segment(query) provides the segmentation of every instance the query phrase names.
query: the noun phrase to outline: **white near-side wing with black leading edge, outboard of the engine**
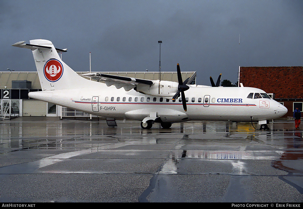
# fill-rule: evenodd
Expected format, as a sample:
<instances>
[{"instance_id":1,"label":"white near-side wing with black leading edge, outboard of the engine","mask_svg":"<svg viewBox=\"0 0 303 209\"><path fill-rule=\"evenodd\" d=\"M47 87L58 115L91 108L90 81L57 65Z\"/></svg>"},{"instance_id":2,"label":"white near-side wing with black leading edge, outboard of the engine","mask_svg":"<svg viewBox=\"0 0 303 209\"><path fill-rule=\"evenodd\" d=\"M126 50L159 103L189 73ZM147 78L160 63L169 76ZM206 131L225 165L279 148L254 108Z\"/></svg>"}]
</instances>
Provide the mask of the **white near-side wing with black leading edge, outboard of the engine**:
<instances>
[{"instance_id":1,"label":"white near-side wing with black leading edge, outboard of the engine","mask_svg":"<svg viewBox=\"0 0 303 209\"><path fill-rule=\"evenodd\" d=\"M131 90L137 84L145 84L150 86L154 84L154 82L151 80L102 73L85 73L81 74L81 76L91 77L96 80L103 80L107 86L114 85L118 89L123 87L125 91Z\"/></svg>"}]
</instances>

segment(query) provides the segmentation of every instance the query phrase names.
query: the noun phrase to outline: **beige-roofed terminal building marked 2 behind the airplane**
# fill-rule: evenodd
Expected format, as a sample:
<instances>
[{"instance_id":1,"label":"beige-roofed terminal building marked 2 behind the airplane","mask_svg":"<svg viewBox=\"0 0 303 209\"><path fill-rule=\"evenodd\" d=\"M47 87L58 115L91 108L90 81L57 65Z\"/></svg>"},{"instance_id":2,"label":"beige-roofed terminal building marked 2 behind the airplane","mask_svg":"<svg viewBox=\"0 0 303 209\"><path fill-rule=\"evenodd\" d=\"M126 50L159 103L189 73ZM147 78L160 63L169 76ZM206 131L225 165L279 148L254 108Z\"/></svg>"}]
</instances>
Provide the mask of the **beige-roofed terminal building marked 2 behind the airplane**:
<instances>
[{"instance_id":1,"label":"beige-roofed terminal building marked 2 behind the airplane","mask_svg":"<svg viewBox=\"0 0 303 209\"><path fill-rule=\"evenodd\" d=\"M89 72L76 72L85 74ZM141 78L146 80L158 80L158 72L102 72L125 77ZM183 81L193 77L191 84L196 82L196 72L181 72ZM89 78L87 78L89 79ZM94 79L92 79L94 80ZM178 82L176 72L161 72L161 80ZM101 82L94 80L95 82ZM70 119L97 120L98 117L70 108L55 105L49 102L31 99L28 93L42 91L38 73L6 71L0 72L0 117L1 119L12 119L19 116L46 116Z\"/></svg>"}]
</instances>

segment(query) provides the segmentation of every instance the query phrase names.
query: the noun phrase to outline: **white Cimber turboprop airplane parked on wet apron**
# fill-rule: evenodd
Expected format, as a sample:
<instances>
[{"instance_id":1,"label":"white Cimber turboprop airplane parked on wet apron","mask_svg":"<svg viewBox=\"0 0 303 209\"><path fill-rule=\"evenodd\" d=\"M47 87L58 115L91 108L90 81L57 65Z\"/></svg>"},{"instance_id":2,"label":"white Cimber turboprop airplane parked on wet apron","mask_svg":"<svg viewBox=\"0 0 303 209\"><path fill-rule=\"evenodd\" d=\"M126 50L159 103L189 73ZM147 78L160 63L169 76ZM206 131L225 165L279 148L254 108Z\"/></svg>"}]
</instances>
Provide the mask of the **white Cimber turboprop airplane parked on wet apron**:
<instances>
[{"instance_id":1,"label":"white Cimber turboprop airplane parked on wet apron","mask_svg":"<svg viewBox=\"0 0 303 209\"><path fill-rule=\"evenodd\" d=\"M58 55L66 49L56 49L48 40L31 40L30 44L21 41L12 46L31 49L34 55L42 91L30 92L30 98L106 118L142 121L144 129L151 128L155 122L170 128L172 123L190 120L258 121L260 129L268 129L268 120L287 112L287 108L261 89L218 87L221 74L217 84L211 79L212 87L189 85L191 78L183 82L179 64L178 83L102 73L82 74L101 79L102 83L76 74Z\"/></svg>"}]
</instances>

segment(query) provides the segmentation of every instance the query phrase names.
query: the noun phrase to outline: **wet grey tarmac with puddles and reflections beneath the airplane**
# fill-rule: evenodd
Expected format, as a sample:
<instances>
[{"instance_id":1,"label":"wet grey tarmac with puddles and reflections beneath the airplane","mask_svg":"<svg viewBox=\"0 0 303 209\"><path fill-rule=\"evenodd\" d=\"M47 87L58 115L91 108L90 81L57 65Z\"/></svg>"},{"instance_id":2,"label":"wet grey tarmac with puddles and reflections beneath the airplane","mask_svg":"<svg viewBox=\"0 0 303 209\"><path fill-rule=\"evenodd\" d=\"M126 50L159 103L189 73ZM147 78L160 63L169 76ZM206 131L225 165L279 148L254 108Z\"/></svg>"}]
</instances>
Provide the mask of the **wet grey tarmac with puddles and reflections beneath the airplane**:
<instances>
[{"instance_id":1,"label":"wet grey tarmac with puddles and reflections beneath the airplane","mask_svg":"<svg viewBox=\"0 0 303 209\"><path fill-rule=\"evenodd\" d=\"M1 121L0 201L302 202L302 130L293 121L269 128L210 121L150 130L136 121L118 121L116 128L50 117Z\"/></svg>"}]
</instances>

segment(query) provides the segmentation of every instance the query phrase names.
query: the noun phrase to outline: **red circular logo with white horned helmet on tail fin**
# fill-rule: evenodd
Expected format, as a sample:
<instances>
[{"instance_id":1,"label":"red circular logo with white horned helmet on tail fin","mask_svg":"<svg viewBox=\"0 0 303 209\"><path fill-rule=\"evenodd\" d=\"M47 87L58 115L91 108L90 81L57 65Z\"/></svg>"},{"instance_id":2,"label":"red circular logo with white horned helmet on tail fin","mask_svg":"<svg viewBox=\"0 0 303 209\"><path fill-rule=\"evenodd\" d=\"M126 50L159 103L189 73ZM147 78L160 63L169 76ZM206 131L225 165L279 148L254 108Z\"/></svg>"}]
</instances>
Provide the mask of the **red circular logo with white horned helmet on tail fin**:
<instances>
[{"instance_id":1,"label":"red circular logo with white horned helmet on tail fin","mask_svg":"<svg viewBox=\"0 0 303 209\"><path fill-rule=\"evenodd\" d=\"M59 60L50 59L45 63L43 72L48 81L58 81L63 74L63 65Z\"/></svg>"}]
</instances>

